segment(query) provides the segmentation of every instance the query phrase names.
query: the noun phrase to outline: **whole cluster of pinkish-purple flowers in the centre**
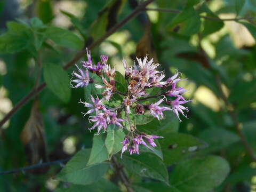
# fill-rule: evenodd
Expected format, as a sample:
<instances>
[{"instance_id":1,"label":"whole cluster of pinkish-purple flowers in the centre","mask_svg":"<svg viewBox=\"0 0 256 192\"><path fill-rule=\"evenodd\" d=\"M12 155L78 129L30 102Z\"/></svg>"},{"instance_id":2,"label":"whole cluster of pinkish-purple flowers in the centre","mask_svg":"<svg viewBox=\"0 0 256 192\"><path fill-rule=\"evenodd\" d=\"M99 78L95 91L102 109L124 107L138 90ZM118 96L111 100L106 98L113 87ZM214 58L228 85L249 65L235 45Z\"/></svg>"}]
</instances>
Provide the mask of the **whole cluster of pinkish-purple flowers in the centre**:
<instances>
[{"instance_id":1,"label":"whole cluster of pinkish-purple flowers in the centre","mask_svg":"<svg viewBox=\"0 0 256 192\"><path fill-rule=\"evenodd\" d=\"M128 148L130 154L139 154L140 144L148 148L155 147L154 139L163 138L157 135L141 133L137 130L135 122L131 120L131 115L143 115L146 111L149 111L152 116L160 121L164 118L163 111L172 110L180 121L179 114L187 118L185 111L188 111L188 108L184 107L183 104L191 100L186 100L182 96L187 90L177 85L179 81L182 81L178 71L164 81L165 74L163 71L157 70L159 64L154 63L153 59L148 60L145 57L142 60L137 58L137 62L131 67L123 60L127 91L122 93L116 87L116 72L114 68L108 65L108 57L101 55L100 61L97 65L94 65L91 59L91 52L89 50L86 51L87 61L82 61L84 69L76 65L78 72L74 71L72 73L76 79L71 79L71 87L84 87L90 83L95 83L96 89L103 89L100 96L101 99L98 98L98 95L95 95L95 97L91 95L91 103L82 101L80 103L89 108L87 113L84 113L84 116L94 114L94 116L89 116L89 121L94 123L90 130L97 128L97 134L101 130L103 132L107 131L109 124L116 124L119 127L126 128L127 134L122 142L122 154ZM89 76L89 71L98 75L102 81L95 81L94 78ZM73 85L74 83L75 85ZM153 87L159 87L159 91L155 95L150 95L147 90ZM122 98L120 100L121 105L115 108L108 107L106 104L110 102L115 94L121 96L119 97ZM153 100L150 100L152 98L158 99L158 101L153 102ZM165 103L165 106L163 106L163 103ZM123 118L120 118L121 116ZM129 126L126 126L126 123Z\"/></svg>"}]
</instances>

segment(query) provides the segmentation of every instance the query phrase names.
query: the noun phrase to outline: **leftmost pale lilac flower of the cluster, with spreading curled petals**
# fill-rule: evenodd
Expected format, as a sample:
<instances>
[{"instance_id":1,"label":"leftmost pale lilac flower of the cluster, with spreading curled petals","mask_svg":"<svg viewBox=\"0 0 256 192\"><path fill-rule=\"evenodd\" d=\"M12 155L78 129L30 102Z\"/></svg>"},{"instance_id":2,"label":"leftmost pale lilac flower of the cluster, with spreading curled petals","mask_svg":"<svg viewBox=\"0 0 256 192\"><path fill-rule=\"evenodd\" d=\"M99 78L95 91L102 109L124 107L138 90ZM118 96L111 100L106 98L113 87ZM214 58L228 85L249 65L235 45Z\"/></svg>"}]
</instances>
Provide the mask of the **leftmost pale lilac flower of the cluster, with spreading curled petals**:
<instances>
[{"instance_id":1,"label":"leftmost pale lilac flower of the cluster, with spreading curled petals","mask_svg":"<svg viewBox=\"0 0 256 192\"><path fill-rule=\"evenodd\" d=\"M71 75L73 75L74 77L78 78L78 79L71 79L70 81L70 85L72 88L77 88L77 87L83 87L83 86L87 86L90 83L90 77L89 77L89 72L88 70L84 71L82 69L80 69L77 65L76 65L78 71L80 74L75 73L75 71L73 71L73 73ZM72 85L72 83L77 83L75 86Z\"/></svg>"}]
</instances>

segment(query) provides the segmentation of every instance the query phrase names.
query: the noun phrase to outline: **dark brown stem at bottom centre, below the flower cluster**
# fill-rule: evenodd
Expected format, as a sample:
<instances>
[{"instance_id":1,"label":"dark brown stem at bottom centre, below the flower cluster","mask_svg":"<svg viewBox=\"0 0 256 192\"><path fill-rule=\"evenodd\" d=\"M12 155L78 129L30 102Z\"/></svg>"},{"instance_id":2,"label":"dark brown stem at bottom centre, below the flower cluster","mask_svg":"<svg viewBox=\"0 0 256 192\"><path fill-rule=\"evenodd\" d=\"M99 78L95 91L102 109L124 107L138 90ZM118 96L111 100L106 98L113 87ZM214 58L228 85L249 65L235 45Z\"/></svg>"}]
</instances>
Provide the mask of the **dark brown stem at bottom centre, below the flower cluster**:
<instances>
[{"instance_id":1,"label":"dark brown stem at bottom centre, below the flower cluster","mask_svg":"<svg viewBox=\"0 0 256 192\"><path fill-rule=\"evenodd\" d=\"M111 158L111 164L113 165L116 173L118 174L119 179L122 181L122 183L124 183L124 186L126 187L127 191L128 192L134 192L134 190L130 186L131 183L130 183L129 179L126 176L126 174L123 170L123 167L117 163L116 158L114 156Z\"/></svg>"}]
</instances>

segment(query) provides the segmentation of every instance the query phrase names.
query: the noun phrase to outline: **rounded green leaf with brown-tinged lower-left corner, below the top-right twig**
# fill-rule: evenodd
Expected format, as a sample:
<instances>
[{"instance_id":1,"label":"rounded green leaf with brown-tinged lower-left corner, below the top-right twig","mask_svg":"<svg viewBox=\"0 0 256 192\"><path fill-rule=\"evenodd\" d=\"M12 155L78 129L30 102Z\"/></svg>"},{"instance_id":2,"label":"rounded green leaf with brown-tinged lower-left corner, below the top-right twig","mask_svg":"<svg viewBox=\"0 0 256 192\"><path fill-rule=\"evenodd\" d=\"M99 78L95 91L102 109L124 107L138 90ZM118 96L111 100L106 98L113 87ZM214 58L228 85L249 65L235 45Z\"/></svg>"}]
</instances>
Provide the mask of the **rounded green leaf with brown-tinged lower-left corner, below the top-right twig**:
<instances>
[{"instance_id":1,"label":"rounded green leaf with brown-tinged lower-left corner, below the top-right twig","mask_svg":"<svg viewBox=\"0 0 256 192\"><path fill-rule=\"evenodd\" d=\"M187 8L179 13L167 25L167 30L178 31L178 34L190 36L196 34L201 26L201 19L199 14L193 7Z\"/></svg>"}]
</instances>

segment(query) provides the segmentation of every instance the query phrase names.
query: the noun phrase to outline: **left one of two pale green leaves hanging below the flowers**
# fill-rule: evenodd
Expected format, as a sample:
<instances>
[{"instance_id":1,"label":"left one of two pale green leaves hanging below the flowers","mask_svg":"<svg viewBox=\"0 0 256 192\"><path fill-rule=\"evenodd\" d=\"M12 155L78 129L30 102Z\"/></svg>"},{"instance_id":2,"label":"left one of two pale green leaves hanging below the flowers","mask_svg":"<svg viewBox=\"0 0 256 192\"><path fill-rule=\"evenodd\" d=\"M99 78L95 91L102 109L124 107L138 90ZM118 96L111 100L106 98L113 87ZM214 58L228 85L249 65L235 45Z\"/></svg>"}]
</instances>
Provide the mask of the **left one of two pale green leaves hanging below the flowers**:
<instances>
[{"instance_id":1,"label":"left one of two pale green leaves hanging below the flowers","mask_svg":"<svg viewBox=\"0 0 256 192\"><path fill-rule=\"evenodd\" d=\"M108 159L108 150L105 146L105 135L94 135L91 155L87 165L101 163Z\"/></svg>"}]
</instances>

